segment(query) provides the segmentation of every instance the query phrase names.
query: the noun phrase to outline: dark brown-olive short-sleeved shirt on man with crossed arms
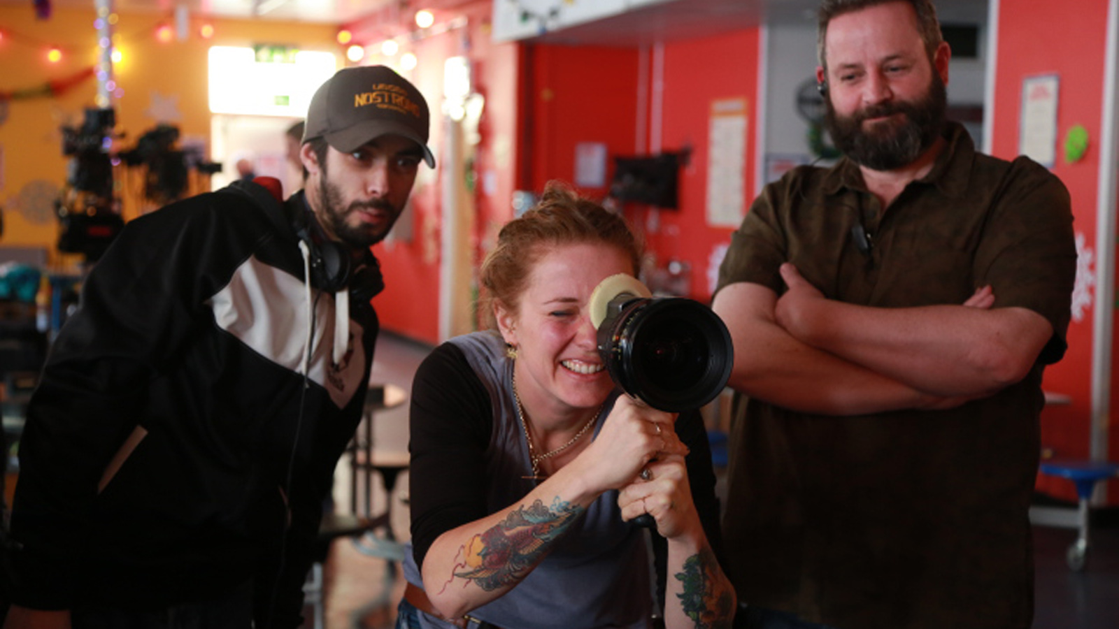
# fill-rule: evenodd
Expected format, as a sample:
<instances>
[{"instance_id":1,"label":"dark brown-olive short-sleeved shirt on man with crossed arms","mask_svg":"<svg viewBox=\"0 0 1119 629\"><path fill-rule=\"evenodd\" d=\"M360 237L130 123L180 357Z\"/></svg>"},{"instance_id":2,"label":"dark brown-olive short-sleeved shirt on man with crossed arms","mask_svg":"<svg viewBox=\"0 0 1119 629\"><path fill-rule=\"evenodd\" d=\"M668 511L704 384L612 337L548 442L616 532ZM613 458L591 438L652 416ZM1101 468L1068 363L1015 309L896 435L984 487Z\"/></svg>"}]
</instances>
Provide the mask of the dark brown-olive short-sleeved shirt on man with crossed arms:
<instances>
[{"instance_id":1,"label":"dark brown-olive short-sleeved shirt on man with crossed arms","mask_svg":"<svg viewBox=\"0 0 1119 629\"><path fill-rule=\"evenodd\" d=\"M1023 382L948 411L835 417L737 401L724 539L744 602L841 629L1031 625L1028 506L1042 369L1064 353L1075 278L1070 198L1027 158L977 153L955 123L946 138L888 208L847 159L767 186L718 287L781 294L783 262L829 299L877 308L960 304L990 284L995 308L1038 312L1053 338Z\"/></svg>"}]
</instances>

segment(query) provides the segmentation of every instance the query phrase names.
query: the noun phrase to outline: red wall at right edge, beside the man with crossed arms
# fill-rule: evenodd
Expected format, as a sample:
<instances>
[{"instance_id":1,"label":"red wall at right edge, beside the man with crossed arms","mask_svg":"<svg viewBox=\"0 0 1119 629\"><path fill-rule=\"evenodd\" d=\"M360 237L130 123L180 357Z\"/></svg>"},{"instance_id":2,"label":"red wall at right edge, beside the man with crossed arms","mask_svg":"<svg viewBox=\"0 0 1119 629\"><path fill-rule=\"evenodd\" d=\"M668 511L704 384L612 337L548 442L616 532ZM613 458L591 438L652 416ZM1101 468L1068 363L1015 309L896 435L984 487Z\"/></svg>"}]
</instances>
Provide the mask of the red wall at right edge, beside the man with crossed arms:
<instances>
[{"instance_id":1,"label":"red wall at right edge, beside the man with crossed arms","mask_svg":"<svg viewBox=\"0 0 1119 629\"><path fill-rule=\"evenodd\" d=\"M1057 75L1057 159L1053 172L1064 181L1072 196L1075 231L1083 235L1085 245L1092 251L1091 271L1096 273L1096 205L1108 0L1081 0L1075 11L1069 9L1069 2L1062 0L1003 0L1000 3L993 152L1007 159L1018 154L1023 78ZM1075 124L1083 125L1091 140L1084 158L1069 163L1062 143L1065 133ZM1072 397L1071 405L1049 406L1042 413L1042 445L1052 449L1056 457L1087 458L1089 454L1092 317L1093 308L1085 308L1081 320L1072 322L1069 351L1061 363L1045 372L1047 391ZM1115 369L1111 372L1113 374ZM1112 453L1119 451L1115 416L1112 411ZM1061 498L1075 497L1066 480L1041 476L1038 488ZM1115 487L1111 496L1119 496Z\"/></svg>"}]
</instances>

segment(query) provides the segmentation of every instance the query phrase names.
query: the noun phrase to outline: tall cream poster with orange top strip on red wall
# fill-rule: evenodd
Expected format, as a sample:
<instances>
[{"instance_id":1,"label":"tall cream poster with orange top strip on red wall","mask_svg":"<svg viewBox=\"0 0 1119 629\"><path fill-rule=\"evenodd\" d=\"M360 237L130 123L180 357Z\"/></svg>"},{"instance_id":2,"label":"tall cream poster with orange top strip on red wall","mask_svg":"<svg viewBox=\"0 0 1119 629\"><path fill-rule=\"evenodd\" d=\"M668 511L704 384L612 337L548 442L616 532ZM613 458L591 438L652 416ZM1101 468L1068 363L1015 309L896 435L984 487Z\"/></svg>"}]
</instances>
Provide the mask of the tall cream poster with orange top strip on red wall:
<instances>
[{"instance_id":1,"label":"tall cream poster with orange top strip on red wall","mask_svg":"<svg viewBox=\"0 0 1119 629\"><path fill-rule=\"evenodd\" d=\"M737 227L745 198L745 98L712 102L707 145L707 224Z\"/></svg>"}]
</instances>

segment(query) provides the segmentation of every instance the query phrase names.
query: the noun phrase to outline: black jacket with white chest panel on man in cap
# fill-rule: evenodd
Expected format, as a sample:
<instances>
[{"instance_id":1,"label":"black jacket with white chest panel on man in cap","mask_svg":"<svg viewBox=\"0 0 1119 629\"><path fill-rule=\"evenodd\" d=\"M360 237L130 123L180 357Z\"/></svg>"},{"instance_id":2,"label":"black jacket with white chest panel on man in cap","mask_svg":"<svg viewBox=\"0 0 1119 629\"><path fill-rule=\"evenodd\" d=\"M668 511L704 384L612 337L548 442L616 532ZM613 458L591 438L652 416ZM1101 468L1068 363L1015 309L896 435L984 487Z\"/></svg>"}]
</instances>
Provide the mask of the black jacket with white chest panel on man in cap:
<instances>
[{"instance_id":1,"label":"black jacket with white chest panel on man in cap","mask_svg":"<svg viewBox=\"0 0 1119 629\"><path fill-rule=\"evenodd\" d=\"M303 196L262 190L130 222L85 280L20 442L15 603L158 608L253 582L256 627L299 623L378 325L351 302L335 359L335 294L304 285L289 219Z\"/></svg>"}]
</instances>

